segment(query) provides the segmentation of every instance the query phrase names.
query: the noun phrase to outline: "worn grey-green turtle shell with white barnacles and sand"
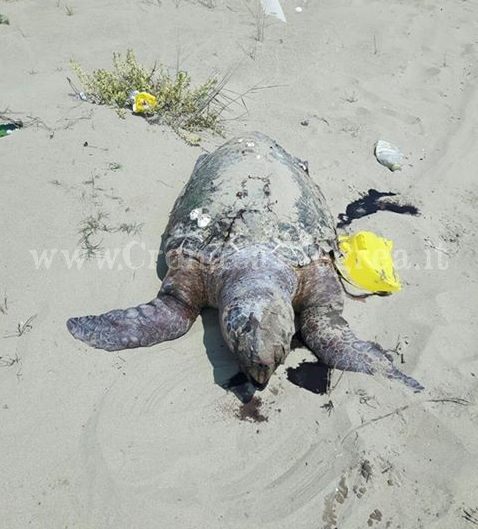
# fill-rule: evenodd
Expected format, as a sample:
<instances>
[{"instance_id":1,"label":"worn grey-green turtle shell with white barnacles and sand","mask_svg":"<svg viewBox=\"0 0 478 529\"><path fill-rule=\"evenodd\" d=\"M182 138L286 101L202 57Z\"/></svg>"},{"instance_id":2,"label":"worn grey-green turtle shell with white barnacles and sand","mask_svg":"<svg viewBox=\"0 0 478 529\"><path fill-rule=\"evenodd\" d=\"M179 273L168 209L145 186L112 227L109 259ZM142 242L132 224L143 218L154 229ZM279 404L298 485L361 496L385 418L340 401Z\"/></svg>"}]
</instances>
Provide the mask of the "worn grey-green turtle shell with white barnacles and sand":
<instances>
[{"instance_id":1,"label":"worn grey-green turtle shell with white barnacles and sand","mask_svg":"<svg viewBox=\"0 0 478 529\"><path fill-rule=\"evenodd\" d=\"M336 250L336 237L306 164L253 132L198 159L171 212L164 251L209 260L256 245L304 266Z\"/></svg>"}]
</instances>

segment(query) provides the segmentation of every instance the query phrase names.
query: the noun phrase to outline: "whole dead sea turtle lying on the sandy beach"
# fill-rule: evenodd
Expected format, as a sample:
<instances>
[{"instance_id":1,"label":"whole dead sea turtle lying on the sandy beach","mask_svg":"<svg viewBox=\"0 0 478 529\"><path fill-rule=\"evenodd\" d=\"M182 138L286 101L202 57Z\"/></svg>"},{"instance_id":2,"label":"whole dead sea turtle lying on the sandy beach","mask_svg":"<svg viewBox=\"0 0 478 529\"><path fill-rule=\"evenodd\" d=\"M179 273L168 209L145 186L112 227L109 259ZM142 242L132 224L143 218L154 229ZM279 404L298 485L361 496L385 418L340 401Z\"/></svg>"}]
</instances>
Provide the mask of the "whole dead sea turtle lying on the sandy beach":
<instances>
[{"instance_id":1,"label":"whole dead sea turtle lying on the sandy beach","mask_svg":"<svg viewBox=\"0 0 478 529\"><path fill-rule=\"evenodd\" d=\"M248 133L200 156L163 241L169 270L158 296L72 318L73 336L107 351L147 347L183 335L212 306L228 347L259 388L284 362L297 330L327 366L422 389L342 317L333 218L307 163L271 138Z\"/></svg>"}]
</instances>

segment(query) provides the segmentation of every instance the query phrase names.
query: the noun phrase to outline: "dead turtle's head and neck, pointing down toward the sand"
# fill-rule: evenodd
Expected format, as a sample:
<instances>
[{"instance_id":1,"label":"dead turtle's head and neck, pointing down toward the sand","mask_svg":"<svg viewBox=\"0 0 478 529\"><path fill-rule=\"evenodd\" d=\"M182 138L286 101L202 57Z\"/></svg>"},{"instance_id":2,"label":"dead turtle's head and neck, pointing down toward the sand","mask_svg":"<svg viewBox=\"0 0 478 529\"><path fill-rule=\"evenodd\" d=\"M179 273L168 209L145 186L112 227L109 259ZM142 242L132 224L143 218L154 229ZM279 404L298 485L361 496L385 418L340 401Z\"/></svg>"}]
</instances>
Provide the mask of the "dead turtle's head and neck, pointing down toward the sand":
<instances>
[{"instance_id":1,"label":"dead turtle's head and neck, pointing down toward the sand","mask_svg":"<svg viewBox=\"0 0 478 529\"><path fill-rule=\"evenodd\" d=\"M267 266L237 259L219 295L221 330L250 381L263 389L289 354L295 332L292 270L271 256Z\"/></svg>"}]
</instances>

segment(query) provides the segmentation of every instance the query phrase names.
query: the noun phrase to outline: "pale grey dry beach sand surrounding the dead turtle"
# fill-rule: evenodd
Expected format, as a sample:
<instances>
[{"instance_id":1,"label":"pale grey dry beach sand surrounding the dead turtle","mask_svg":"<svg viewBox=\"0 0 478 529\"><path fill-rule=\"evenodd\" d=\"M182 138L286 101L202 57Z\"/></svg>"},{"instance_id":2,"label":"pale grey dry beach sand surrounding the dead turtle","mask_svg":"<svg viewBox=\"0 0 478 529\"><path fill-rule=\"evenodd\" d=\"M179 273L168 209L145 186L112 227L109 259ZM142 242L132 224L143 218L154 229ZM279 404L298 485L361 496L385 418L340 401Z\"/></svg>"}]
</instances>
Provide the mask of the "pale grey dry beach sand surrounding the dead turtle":
<instances>
[{"instance_id":1,"label":"pale grey dry beach sand surrounding the dead turtle","mask_svg":"<svg viewBox=\"0 0 478 529\"><path fill-rule=\"evenodd\" d=\"M478 4L283 0L287 24L268 18L263 42L252 1L200 4L0 1L10 18L0 26L0 112L30 124L0 139L0 331L15 335L36 316L0 343L0 527L471 529ZM296 349L257 410L242 410L256 421L241 420L240 401L217 384L235 367L213 311L146 350L106 353L72 339L68 317L154 296L154 263L141 260L149 251L154 260L202 152L71 97L70 58L107 67L127 48L144 63L179 60L197 80L233 70L236 92L268 86L248 94L227 136L261 130L307 159L334 214L370 187L420 207L420 217L379 213L352 226L393 239L408 262L400 294L347 301L346 316L364 337L390 348L400 340L423 394L338 372L330 394L308 392L287 380L287 367L311 359ZM373 158L379 138L407 155L401 173ZM134 270L124 259L114 270L95 259L66 265L61 252L78 248L82 220L98 211L111 225L143 224L102 241L129 244ZM35 265L35 252L54 249L50 267ZM454 397L469 404L430 402Z\"/></svg>"}]
</instances>

